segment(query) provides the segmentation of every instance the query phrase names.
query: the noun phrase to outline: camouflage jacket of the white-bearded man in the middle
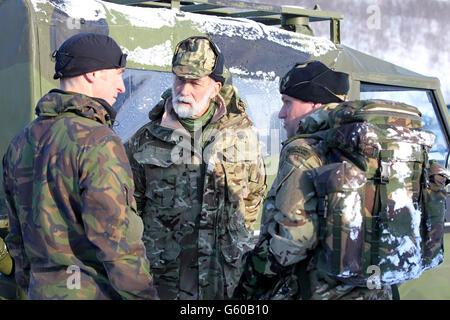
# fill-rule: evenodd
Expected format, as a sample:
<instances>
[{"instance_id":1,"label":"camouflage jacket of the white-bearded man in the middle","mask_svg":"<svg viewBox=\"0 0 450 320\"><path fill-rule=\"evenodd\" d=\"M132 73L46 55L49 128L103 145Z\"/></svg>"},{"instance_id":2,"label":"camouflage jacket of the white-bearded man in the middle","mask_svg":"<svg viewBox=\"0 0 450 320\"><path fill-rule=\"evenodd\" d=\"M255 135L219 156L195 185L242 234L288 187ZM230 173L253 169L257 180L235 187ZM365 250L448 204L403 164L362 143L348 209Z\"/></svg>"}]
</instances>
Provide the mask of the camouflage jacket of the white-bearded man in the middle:
<instances>
[{"instance_id":1,"label":"camouflage jacket of the white-bearded man in the middle","mask_svg":"<svg viewBox=\"0 0 450 320\"><path fill-rule=\"evenodd\" d=\"M222 88L193 136L171 101L166 91L127 145L155 286L162 299L226 299L254 245L264 163L234 87Z\"/></svg>"}]
</instances>

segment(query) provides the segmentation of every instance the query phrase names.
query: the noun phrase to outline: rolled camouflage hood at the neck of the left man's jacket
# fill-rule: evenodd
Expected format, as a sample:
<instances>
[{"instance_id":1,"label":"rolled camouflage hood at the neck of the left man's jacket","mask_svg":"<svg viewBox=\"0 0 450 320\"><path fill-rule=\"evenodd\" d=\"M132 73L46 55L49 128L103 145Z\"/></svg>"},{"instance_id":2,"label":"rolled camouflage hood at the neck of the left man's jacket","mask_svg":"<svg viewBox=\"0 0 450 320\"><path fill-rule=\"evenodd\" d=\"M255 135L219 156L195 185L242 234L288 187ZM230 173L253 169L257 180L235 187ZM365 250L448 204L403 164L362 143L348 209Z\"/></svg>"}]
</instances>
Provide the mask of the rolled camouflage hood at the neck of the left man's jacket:
<instances>
[{"instance_id":1,"label":"rolled camouflage hood at the neck of the left man's jacket","mask_svg":"<svg viewBox=\"0 0 450 320\"><path fill-rule=\"evenodd\" d=\"M73 112L108 127L112 127L116 117L116 111L103 99L59 89L53 89L43 96L35 112L39 117L57 117L65 112Z\"/></svg>"}]
</instances>

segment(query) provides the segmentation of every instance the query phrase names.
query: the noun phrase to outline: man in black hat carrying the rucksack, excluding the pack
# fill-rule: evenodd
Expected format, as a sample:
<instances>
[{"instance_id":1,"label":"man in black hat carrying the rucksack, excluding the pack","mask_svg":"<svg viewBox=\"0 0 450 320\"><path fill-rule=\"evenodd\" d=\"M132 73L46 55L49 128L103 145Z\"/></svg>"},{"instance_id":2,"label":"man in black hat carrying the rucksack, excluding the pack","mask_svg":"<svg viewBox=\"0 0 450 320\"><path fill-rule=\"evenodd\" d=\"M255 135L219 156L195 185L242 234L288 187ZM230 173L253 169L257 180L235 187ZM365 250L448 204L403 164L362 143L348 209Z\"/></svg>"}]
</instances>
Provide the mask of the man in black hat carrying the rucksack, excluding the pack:
<instances>
[{"instance_id":1,"label":"man in black hat carrying the rucksack, excluding the pack","mask_svg":"<svg viewBox=\"0 0 450 320\"><path fill-rule=\"evenodd\" d=\"M355 287L318 272L314 259L319 222L307 172L326 158L318 140L291 138L302 134L296 130L304 117L324 103L343 101L347 91L348 75L317 61L296 65L283 77L278 116L289 140L283 143L278 174L264 201L259 241L244 259L235 298L391 299L390 288Z\"/></svg>"}]
</instances>

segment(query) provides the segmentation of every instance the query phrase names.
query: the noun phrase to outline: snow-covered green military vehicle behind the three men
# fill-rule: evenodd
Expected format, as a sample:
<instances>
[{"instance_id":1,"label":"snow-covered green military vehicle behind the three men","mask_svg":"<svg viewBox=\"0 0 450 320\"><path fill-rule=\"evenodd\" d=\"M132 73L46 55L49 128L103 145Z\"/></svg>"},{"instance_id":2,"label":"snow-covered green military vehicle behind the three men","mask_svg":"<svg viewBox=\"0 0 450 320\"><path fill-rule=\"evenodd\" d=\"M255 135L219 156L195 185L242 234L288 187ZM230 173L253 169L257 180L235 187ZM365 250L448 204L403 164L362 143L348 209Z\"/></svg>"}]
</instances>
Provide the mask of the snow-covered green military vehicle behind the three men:
<instances>
[{"instance_id":1,"label":"snow-covered green military vehicle behind the three men","mask_svg":"<svg viewBox=\"0 0 450 320\"><path fill-rule=\"evenodd\" d=\"M0 155L34 117L42 95L58 87L52 52L79 32L114 38L128 54L127 91L115 103L126 143L172 84L175 45L193 35L210 37L225 56L227 83L247 102L269 174L276 174L284 130L280 78L295 64L320 60L350 75L349 99L383 98L417 106L436 134L431 158L449 161L450 118L437 78L426 77L341 44L341 13L319 8L232 0L0 0ZM351 19L351 17L349 17ZM314 23L329 23L329 37ZM4 208L0 214L4 215ZM450 216L447 213L447 221ZM446 223L448 227L448 222ZM445 244L450 245L450 233ZM402 299L450 299L450 257L421 278L400 286Z\"/></svg>"}]
</instances>

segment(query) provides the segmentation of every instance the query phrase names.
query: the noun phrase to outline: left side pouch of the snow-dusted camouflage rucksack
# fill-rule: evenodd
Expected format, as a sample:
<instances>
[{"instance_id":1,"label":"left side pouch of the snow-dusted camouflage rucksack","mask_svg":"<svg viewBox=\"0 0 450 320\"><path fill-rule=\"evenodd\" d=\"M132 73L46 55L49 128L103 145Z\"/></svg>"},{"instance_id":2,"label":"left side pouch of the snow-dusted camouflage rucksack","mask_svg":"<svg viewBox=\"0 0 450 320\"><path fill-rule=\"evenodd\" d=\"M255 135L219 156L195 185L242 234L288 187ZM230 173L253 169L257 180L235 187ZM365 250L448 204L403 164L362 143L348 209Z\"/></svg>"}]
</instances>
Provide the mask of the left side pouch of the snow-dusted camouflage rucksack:
<instances>
[{"instance_id":1,"label":"left side pouch of the snow-dusted camouflage rucksack","mask_svg":"<svg viewBox=\"0 0 450 320\"><path fill-rule=\"evenodd\" d=\"M363 273L366 176L350 163L313 169L317 195L319 270L340 278Z\"/></svg>"}]
</instances>

